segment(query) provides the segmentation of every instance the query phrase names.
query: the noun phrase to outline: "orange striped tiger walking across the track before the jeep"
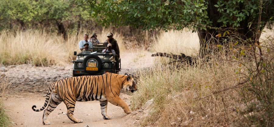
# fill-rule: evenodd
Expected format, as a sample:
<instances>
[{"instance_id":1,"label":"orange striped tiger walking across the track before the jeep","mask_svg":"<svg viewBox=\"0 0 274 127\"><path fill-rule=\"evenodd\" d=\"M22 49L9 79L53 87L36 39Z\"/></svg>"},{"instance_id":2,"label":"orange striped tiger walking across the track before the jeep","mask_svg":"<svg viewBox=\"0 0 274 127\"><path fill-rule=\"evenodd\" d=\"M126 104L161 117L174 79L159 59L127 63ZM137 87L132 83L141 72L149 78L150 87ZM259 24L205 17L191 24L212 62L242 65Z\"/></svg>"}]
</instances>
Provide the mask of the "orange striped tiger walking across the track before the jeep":
<instances>
[{"instance_id":1,"label":"orange striped tiger walking across the track before the jeep","mask_svg":"<svg viewBox=\"0 0 274 127\"><path fill-rule=\"evenodd\" d=\"M101 114L103 119L112 119L107 115L107 103L110 102L121 107L126 114L130 114L131 110L123 101L119 94L121 90L135 92L137 90L133 75L119 75L114 73L104 73L99 76L78 76L69 77L54 81L48 88L44 106L33 111L42 111L43 124L51 124L47 117L60 104L64 102L67 107L67 116L74 123L82 123L83 120L76 119L73 116L76 101L100 101Z\"/></svg>"}]
</instances>

